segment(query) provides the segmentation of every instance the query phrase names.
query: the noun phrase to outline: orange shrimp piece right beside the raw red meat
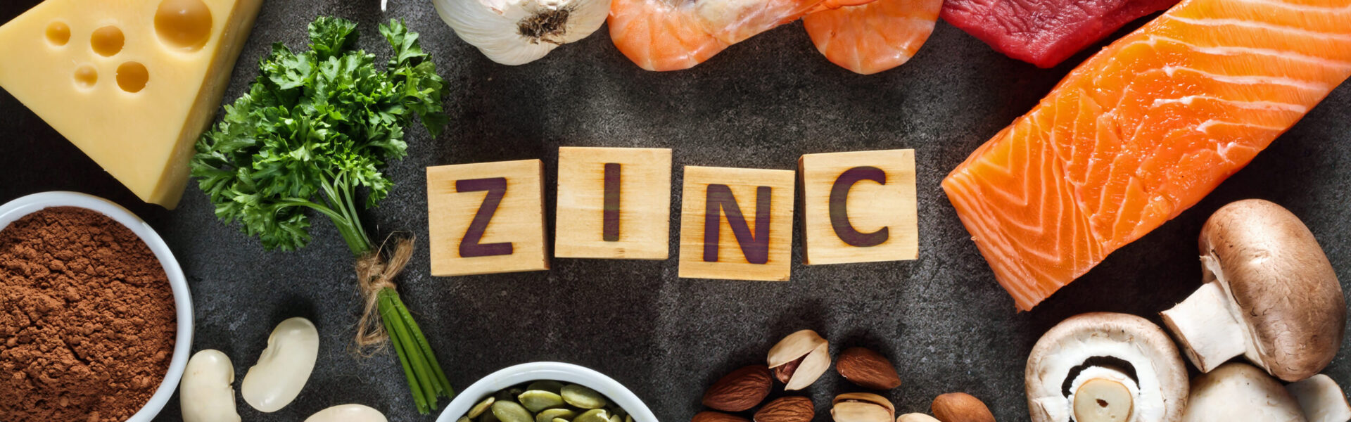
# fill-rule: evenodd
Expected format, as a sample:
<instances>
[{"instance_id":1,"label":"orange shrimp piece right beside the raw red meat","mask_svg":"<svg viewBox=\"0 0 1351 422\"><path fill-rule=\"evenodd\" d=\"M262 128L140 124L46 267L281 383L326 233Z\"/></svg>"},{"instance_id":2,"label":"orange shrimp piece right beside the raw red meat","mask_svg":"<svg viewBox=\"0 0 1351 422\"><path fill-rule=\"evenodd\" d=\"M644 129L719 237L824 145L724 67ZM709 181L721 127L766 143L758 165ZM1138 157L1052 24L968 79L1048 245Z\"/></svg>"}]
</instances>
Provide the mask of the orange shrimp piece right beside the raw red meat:
<instances>
[{"instance_id":1,"label":"orange shrimp piece right beside the raw red meat","mask_svg":"<svg viewBox=\"0 0 1351 422\"><path fill-rule=\"evenodd\" d=\"M827 60L873 74L915 57L942 9L943 0L877 0L807 15L802 27Z\"/></svg>"}]
</instances>

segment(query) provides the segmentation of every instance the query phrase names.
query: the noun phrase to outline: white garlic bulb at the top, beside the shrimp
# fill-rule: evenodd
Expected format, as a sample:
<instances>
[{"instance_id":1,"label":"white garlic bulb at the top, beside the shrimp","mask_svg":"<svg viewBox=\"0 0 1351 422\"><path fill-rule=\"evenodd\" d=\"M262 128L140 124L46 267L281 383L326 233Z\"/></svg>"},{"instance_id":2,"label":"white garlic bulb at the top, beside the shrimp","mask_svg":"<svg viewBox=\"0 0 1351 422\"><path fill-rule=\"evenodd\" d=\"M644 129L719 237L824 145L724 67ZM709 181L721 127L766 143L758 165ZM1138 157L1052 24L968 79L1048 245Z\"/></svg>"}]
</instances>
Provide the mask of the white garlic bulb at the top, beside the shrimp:
<instances>
[{"instance_id":1,"label":"white garlic bulb at the top, beside the shrimp","mask_svg":"<svg viewBox=\"0 0 1351 422\"><path fill-rule=\"evenodd\" d=\"M590 35L611 0L432 0L465 42L494 62L523 65Z\"/></svg>"}]
</instances>

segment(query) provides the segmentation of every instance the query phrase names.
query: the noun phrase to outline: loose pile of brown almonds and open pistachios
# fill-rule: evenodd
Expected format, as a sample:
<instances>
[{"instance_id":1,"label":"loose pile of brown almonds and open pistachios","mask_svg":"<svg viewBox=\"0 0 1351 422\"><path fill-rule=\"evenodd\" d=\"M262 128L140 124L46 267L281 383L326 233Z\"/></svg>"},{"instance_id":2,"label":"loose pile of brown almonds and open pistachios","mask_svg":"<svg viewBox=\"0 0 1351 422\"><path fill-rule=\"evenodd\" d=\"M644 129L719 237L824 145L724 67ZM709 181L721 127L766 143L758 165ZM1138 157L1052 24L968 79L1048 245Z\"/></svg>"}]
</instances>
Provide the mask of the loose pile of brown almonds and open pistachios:
<instances>
[{"instance_id":1,"label":"loose pile of brown almonds and open pistachios","mask_svg":"<svg viewBox=\"0 0 1351 422\"><path fill-rule=\"evenodd\" d=\"M769 365L743 367L715 381L703 399L704 406L712 410L694 414L692 422L811 422L816 407L809 398L790 395L763 402L774 380L784 384L784 391L796 391L820 379L831 367L830 342L816 331L801 330L775 344L766 361ZM835 360L835 372L867 390L885 391L901 385L892 361L871 349L844 349ZM759 410L753 419L738 415L755 406ZM892 400L871 392L847 392L831 400L835 422L994 422L985 403L965 392L938 396L931 411L934 417L921 413L896 417Z\"/></svg>"}]
</instances>

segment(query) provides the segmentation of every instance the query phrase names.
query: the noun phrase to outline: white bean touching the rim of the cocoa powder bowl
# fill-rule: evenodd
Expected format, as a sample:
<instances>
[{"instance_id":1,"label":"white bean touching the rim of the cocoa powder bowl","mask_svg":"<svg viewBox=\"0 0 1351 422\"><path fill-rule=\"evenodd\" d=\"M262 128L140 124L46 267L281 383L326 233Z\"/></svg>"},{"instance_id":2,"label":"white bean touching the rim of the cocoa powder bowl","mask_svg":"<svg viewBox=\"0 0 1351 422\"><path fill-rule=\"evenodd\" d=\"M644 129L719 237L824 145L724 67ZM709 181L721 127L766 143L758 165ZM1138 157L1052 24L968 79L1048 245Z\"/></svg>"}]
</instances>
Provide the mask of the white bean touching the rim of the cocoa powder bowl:
<instances>
[{"instance_id":1,"label":"white bean touching the rim of the cocoa powder bowl","mask_svg":"<svg viewBox=\"0 0 1351 422\"><path fill-rule=\"evenodd\" d=\"M220 350L201 350L188 360L178 383L184 422L239 422L235 411L235 367Z\"/></svg>"}]
</instances>

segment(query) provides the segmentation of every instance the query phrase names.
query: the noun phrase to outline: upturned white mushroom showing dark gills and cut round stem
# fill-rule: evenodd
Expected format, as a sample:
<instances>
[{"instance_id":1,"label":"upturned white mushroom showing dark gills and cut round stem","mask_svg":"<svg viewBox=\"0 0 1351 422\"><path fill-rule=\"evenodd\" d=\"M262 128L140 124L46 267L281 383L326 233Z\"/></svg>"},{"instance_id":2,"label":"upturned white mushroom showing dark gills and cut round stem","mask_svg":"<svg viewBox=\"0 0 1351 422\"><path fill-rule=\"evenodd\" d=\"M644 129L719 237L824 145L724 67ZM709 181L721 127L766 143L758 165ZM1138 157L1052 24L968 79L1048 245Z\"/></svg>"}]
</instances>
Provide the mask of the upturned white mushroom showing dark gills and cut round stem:
<instances>
[{"instance_id":1,"label":"upturned white mushroom showing dark gills and cut round stem","mask_svg":"<svg viewBox=\"0 0 1351 422\"><path fill-rule=\"evenodd\" d=\"M1027 358L1034 422L1175 422L1188 379L1159 326L1127 314L1071 316L1042 335Z\"/></svg>"}]
</instances>

